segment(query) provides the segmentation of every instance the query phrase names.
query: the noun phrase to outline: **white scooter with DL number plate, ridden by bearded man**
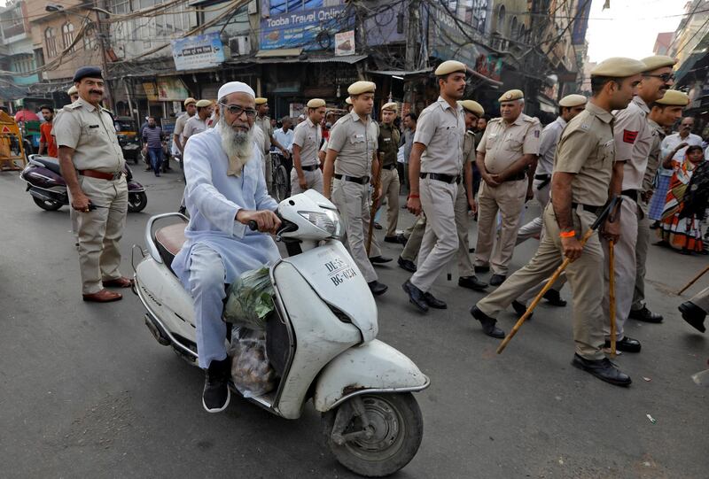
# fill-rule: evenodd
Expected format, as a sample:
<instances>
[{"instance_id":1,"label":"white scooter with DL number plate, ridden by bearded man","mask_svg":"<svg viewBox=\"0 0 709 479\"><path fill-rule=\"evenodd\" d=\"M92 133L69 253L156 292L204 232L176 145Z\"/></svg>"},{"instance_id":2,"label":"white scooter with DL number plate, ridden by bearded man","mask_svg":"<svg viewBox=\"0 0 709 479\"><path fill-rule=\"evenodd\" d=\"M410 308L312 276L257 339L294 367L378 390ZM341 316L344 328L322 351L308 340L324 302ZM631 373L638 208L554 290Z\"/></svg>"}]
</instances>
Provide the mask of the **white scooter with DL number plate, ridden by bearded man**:
<instances>
[{"instance_id":1,"label":"white scooter with DL number plate, ridden by bearded man","mask_svg":"<svg viewBox=\"0 0 709 479\"><path fill-rule=\"evenodd\" d=\"M267 323L266 349L280 381L275 391L248 400L297 419L312 398L340 463L359 475L393 474L421 444L423 419L411 392L424 390L429 379L375 339L377 305L340 243L344 225L335 205L309 189L284 199L277 213L283 224L276 239L289 258L270 267L276 317ZM156 221L166 218L180 221L153 232ZM192 298L169 267L184 243L186 221L179 213L148 221L134 291L152 336L196 365Z\"/></svg>"}]
</instances>

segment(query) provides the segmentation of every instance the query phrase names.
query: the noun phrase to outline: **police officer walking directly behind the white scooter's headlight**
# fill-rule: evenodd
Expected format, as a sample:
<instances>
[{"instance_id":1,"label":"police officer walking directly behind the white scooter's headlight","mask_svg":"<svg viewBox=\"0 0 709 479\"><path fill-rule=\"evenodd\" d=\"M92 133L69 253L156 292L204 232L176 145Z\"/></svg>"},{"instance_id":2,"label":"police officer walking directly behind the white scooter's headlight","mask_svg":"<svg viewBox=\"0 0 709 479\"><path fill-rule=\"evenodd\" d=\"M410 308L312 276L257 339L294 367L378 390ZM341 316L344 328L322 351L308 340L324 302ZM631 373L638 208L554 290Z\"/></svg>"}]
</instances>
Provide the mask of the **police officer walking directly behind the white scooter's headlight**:
<instances>
[{"instance_id":1,"label":"police officer walking directly behind the white scooter's headlight","mask_svg":"<svg viewBox=\"0 0 709 479\"><path fill-rule=\"evenodd\" d=\"M328 140L323 168L323 195L332 198L347 228L347 243L354 263L359 267L374 295L388 289L378 282L372 263L386 263L374 237L367 258L366 235L370 228L369 185L374 187L373 201L381 194L374 173L378 171L377 138L379 127L371 119L376 85L371 81L355 81L347 92L352 112L335 122ZM333 180L334 177L334 180Z\"/></svg>"}]
</instances>

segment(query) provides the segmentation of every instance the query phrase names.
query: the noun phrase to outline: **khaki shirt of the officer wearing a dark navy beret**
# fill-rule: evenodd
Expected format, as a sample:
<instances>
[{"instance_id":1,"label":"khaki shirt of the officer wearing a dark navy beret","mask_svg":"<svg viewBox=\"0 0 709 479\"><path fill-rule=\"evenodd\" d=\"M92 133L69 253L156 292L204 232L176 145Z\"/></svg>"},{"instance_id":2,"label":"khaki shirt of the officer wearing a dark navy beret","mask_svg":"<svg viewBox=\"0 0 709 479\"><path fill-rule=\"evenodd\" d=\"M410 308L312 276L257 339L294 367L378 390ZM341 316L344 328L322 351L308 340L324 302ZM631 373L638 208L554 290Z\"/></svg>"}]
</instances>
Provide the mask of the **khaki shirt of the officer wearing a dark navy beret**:
<instances>
[{"instance_id":1,"label":"khaki shirt of the officer wearing a dark navy beret","mask_svg":"<svg viewBox=\"0 0 709 479\"><path fill-rule=\"evenodd\" d=\"M118 173L125 166L111 113L83 98L62 108L54 121L54 135L57 146L74 149L77 170Z\"/></svg>"}]
</instances>

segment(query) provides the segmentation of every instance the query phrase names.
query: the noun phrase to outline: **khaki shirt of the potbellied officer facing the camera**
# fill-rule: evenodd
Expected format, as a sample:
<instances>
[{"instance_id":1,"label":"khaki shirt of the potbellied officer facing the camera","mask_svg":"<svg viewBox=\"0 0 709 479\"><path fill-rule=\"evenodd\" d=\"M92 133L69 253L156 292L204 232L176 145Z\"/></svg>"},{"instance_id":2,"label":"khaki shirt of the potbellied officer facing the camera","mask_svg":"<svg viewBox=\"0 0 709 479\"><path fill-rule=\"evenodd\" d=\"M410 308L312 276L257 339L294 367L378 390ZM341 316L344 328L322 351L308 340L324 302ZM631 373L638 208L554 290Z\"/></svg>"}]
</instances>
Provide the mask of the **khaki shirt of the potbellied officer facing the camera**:
<instances>
[{"instance_id":1,"label":"khaki shirt of the potbellied officer facing the camera","mask_svg":"<svg viewBox=\"0 0 709 479\"><path fill-rule=\"evenodd\" d=\"M519 113L517 120L507 123L495 118L487 123L478 151L485 153L488 173L503 173L523 155L538 155L541 136L539 120Z\"/></svg>"}]
</instances>

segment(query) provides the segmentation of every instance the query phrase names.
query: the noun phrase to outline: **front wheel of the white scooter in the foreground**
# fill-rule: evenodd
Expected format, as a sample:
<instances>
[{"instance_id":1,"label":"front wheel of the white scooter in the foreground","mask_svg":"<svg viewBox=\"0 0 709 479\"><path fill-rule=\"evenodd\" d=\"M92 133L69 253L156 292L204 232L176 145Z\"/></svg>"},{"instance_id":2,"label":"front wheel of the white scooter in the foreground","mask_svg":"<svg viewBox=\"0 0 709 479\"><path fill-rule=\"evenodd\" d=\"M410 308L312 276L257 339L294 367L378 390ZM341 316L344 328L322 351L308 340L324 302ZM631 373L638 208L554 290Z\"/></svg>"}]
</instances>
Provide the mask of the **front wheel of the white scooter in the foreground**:
<instances>
[{"instance_id":1,"label":"front wheel of the white scooter in the foreground","mask_svg":"<svg viewBox=\"0 0 709 479\"><path fill-rule=\"evenodd\" d=\"M340 464L366 477L392 475L421 445L424 421L410 393L362 394L323 414L327 444Z\"/></svg>"}]
</instances>

